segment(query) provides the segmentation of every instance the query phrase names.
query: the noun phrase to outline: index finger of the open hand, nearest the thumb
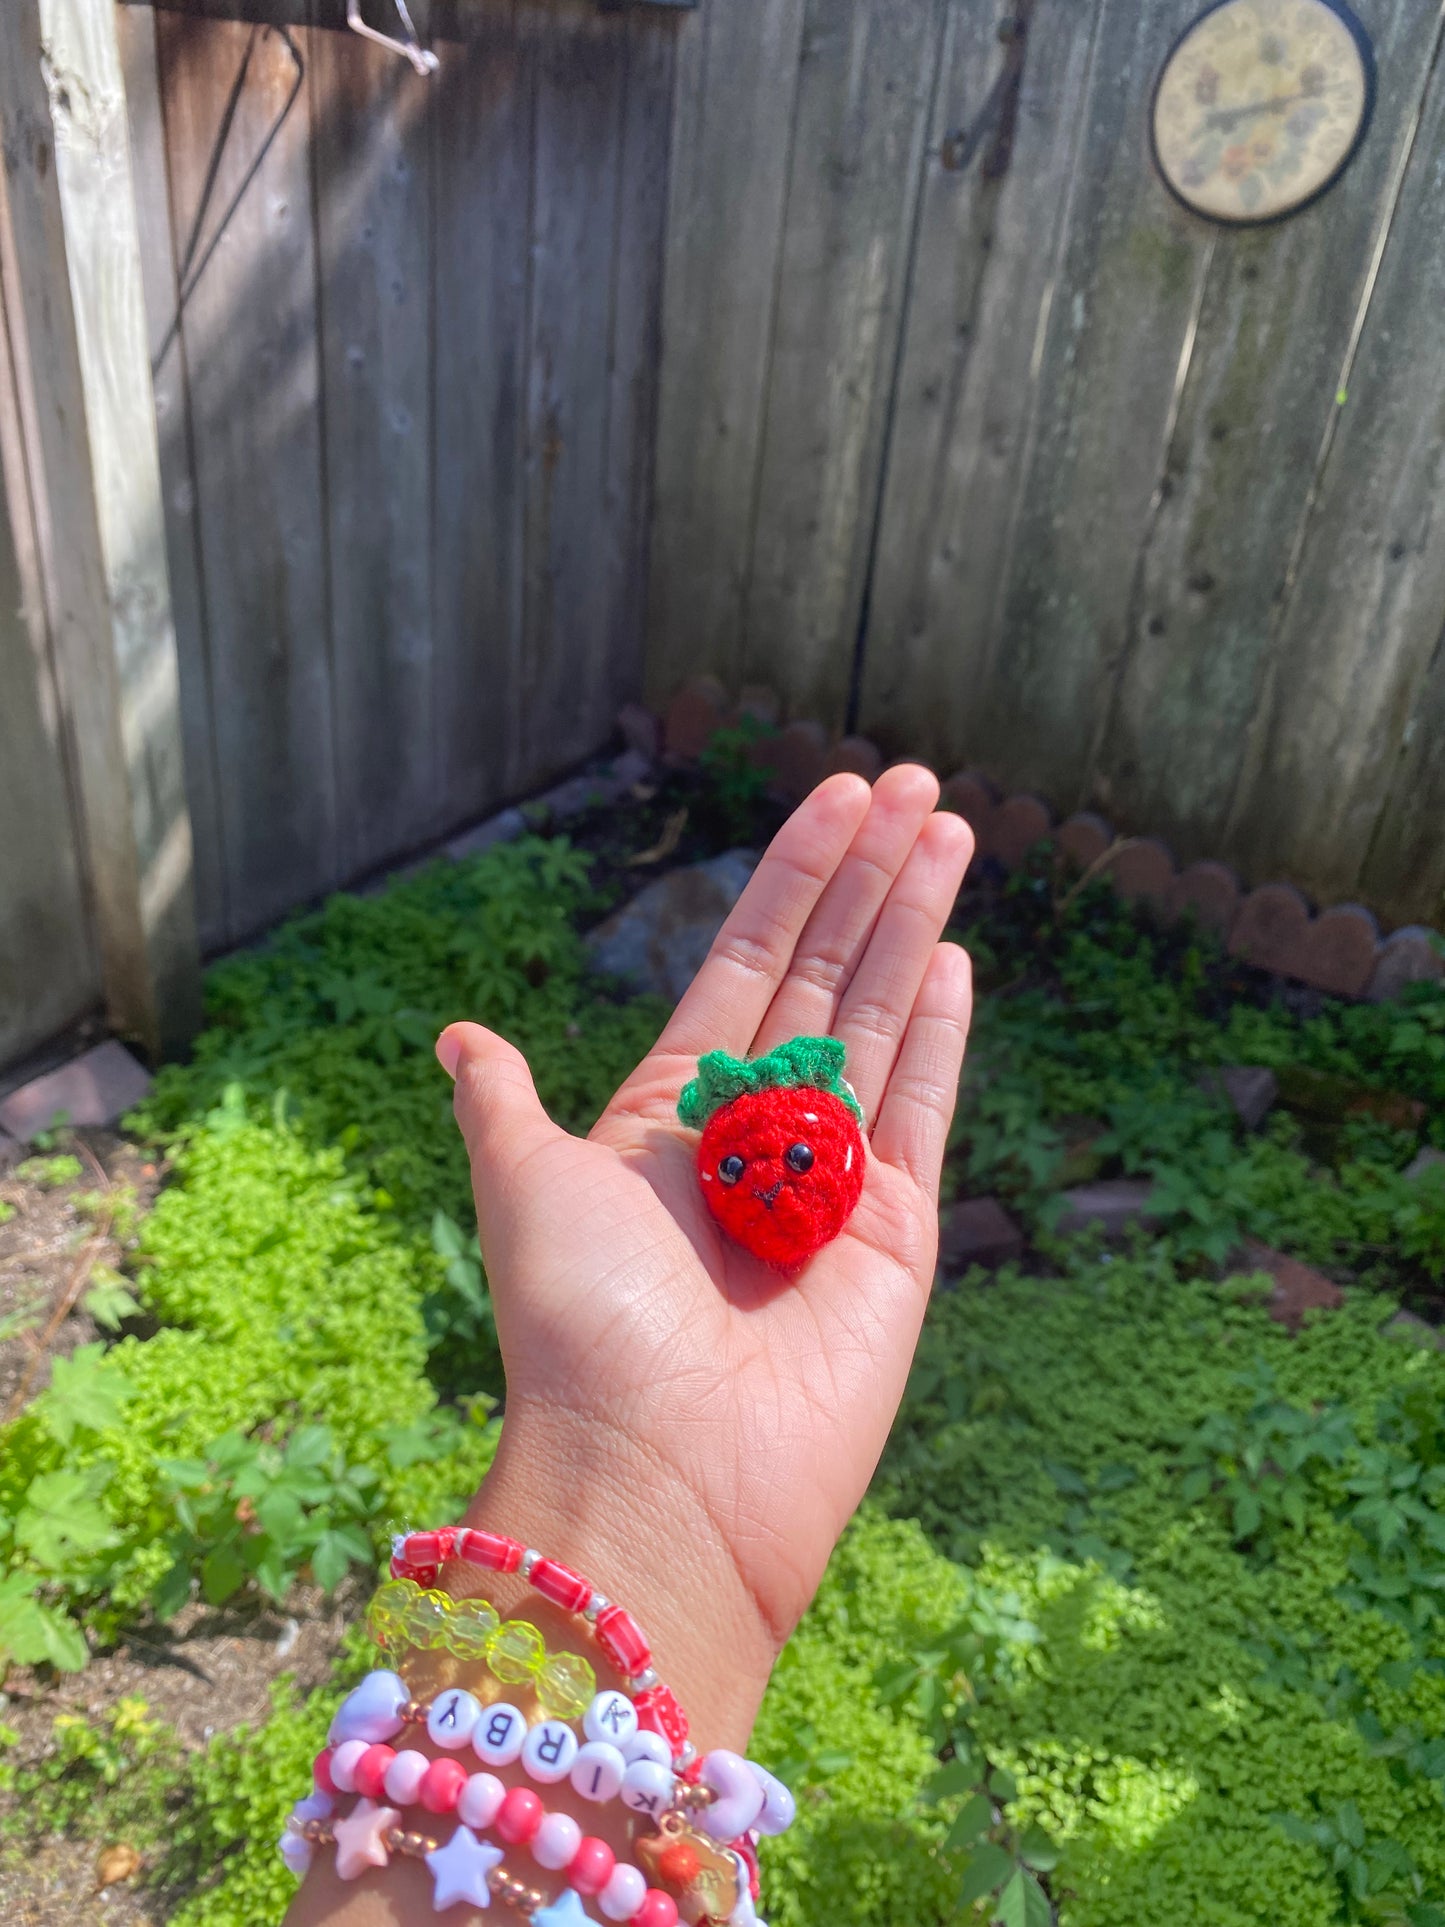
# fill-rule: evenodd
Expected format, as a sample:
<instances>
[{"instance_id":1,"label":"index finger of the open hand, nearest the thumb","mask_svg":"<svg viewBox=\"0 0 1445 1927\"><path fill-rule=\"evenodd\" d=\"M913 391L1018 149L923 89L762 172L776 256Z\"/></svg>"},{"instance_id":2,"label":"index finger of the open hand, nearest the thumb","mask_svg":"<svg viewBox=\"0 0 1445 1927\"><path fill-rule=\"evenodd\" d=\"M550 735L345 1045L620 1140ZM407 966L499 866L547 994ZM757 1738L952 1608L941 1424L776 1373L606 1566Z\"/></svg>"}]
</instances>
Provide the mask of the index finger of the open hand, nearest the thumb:
<instances>
[{"instance_id":1,"label":"index finger of the open hand, nearest the thumb","mask_svg":"<svg viewBox=\"0 0 1445 1927\"><path fill-rule=\"evenodd\" d=\"M659 1052L749 1050L813 904L867 811L861 777L828 777L794 809L672 1012Z\"/></svg>"}]
</instances>

